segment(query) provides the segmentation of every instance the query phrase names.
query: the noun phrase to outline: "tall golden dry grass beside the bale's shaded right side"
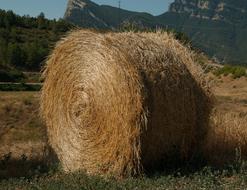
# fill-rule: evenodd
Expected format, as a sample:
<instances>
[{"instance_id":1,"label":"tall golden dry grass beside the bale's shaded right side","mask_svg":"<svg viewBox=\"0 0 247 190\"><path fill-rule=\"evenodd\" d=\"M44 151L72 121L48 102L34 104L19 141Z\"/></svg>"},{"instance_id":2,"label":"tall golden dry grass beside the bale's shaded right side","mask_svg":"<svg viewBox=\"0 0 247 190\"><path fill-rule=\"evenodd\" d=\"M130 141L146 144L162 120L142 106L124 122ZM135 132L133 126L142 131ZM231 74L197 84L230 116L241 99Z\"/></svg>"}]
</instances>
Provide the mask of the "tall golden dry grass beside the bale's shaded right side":
<instances>
[{"instance_id":1,"label":"tall golden dry grass beside the bale's shaded right side","mask_svg":"<svg viewBox=\"0 0 247 190\"><path fill-rule=\"evenodd\" d=\"M207 161L215 166L246 161L247 114L216 111L204 148Z\"/></svg>"}]
</instances>

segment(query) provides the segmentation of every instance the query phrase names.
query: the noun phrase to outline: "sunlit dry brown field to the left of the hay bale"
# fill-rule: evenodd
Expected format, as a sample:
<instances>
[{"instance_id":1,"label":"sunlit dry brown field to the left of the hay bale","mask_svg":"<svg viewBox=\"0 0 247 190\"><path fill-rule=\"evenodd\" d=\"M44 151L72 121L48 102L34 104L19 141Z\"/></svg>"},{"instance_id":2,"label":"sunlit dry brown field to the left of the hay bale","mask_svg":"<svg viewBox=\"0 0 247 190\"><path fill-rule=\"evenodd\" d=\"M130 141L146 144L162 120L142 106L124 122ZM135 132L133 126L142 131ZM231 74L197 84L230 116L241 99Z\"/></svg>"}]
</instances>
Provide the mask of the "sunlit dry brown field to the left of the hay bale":
<instances>
[{"instance_id":1,"label":"sunlit dry brown field to the left of the hay bale","mask_svg":"<svg viewBox=\"0 0 247 190\"><path fill-rule=\"evenodd\" d=\"M0 158L40 157L45 141L39 93L0 92Z\"/></svg>"}]
</instances>

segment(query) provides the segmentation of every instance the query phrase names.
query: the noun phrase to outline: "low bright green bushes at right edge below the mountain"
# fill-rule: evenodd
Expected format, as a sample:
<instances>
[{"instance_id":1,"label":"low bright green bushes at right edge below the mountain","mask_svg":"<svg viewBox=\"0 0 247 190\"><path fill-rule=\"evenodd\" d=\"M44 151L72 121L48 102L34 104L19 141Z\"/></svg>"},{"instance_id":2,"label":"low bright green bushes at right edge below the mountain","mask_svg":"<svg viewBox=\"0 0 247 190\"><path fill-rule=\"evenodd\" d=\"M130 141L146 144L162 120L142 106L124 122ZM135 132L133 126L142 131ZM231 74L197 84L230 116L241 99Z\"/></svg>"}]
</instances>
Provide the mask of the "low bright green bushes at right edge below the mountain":
<instances>
[{"instance_id":1,"label":"low bright green bushes at right edge below the mountain","mask_svg":"<svg viewBox=\"0 0 247 190\"><path fill-rule=\"evenodd\" d=\"M216 76L220 75L232 75L233 78L240 78L240 77L247 77L247 68L242 67L242 66L231 66L231 65L226 65L214 72Z\"/></svg>"}]
</instances>

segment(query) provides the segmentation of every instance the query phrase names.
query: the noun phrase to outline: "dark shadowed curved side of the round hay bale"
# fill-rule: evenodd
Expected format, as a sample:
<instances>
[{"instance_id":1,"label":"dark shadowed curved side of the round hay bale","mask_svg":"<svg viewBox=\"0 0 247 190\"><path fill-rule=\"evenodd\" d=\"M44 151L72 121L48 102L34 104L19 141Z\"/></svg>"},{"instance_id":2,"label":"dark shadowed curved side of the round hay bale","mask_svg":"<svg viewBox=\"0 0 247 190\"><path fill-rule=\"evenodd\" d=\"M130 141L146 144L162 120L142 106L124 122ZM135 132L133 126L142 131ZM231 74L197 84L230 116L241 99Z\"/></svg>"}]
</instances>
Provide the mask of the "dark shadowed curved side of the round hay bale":
<instances>
[{"instance_id":1,"label":"dark shadowed curved side of the round hay bale","mask_svg":"<svg viewBox=\"0 0 247 190\"><path fill-rule=\"evenodd\" d=\"M154 83L143 76L149 89L149 122L141 136L145 174L188 173L207 164L203 146L215 98L206 85L187 72L186 77L178 75L177 86L170 77Z\"/></svg>"}]
</instances>

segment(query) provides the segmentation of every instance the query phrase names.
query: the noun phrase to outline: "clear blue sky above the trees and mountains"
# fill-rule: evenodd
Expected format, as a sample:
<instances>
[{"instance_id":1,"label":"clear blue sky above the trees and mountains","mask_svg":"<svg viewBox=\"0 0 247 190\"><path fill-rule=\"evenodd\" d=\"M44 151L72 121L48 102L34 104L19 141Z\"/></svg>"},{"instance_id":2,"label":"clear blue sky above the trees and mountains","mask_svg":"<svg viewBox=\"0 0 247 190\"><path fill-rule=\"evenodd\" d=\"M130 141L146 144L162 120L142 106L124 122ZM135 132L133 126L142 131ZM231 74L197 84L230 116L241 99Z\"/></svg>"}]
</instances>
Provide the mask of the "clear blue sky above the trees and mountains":
<instances>
[{"instance_id":1,"label":"clear blue sky above the trees and mountains","mask_svg":"<svg viewBox=\"0 0 247 190\"><path fill-rule=\"evenodd\" d=\"M159 15L167 11L174 0L121 0L123 9ZM118 6L118 0L93 0L98 4ZM37 16L44 12L48 18L62 18L67 0L0 0L0 9L13 10L20 15Z\"/></svg>"}]
</instances>

